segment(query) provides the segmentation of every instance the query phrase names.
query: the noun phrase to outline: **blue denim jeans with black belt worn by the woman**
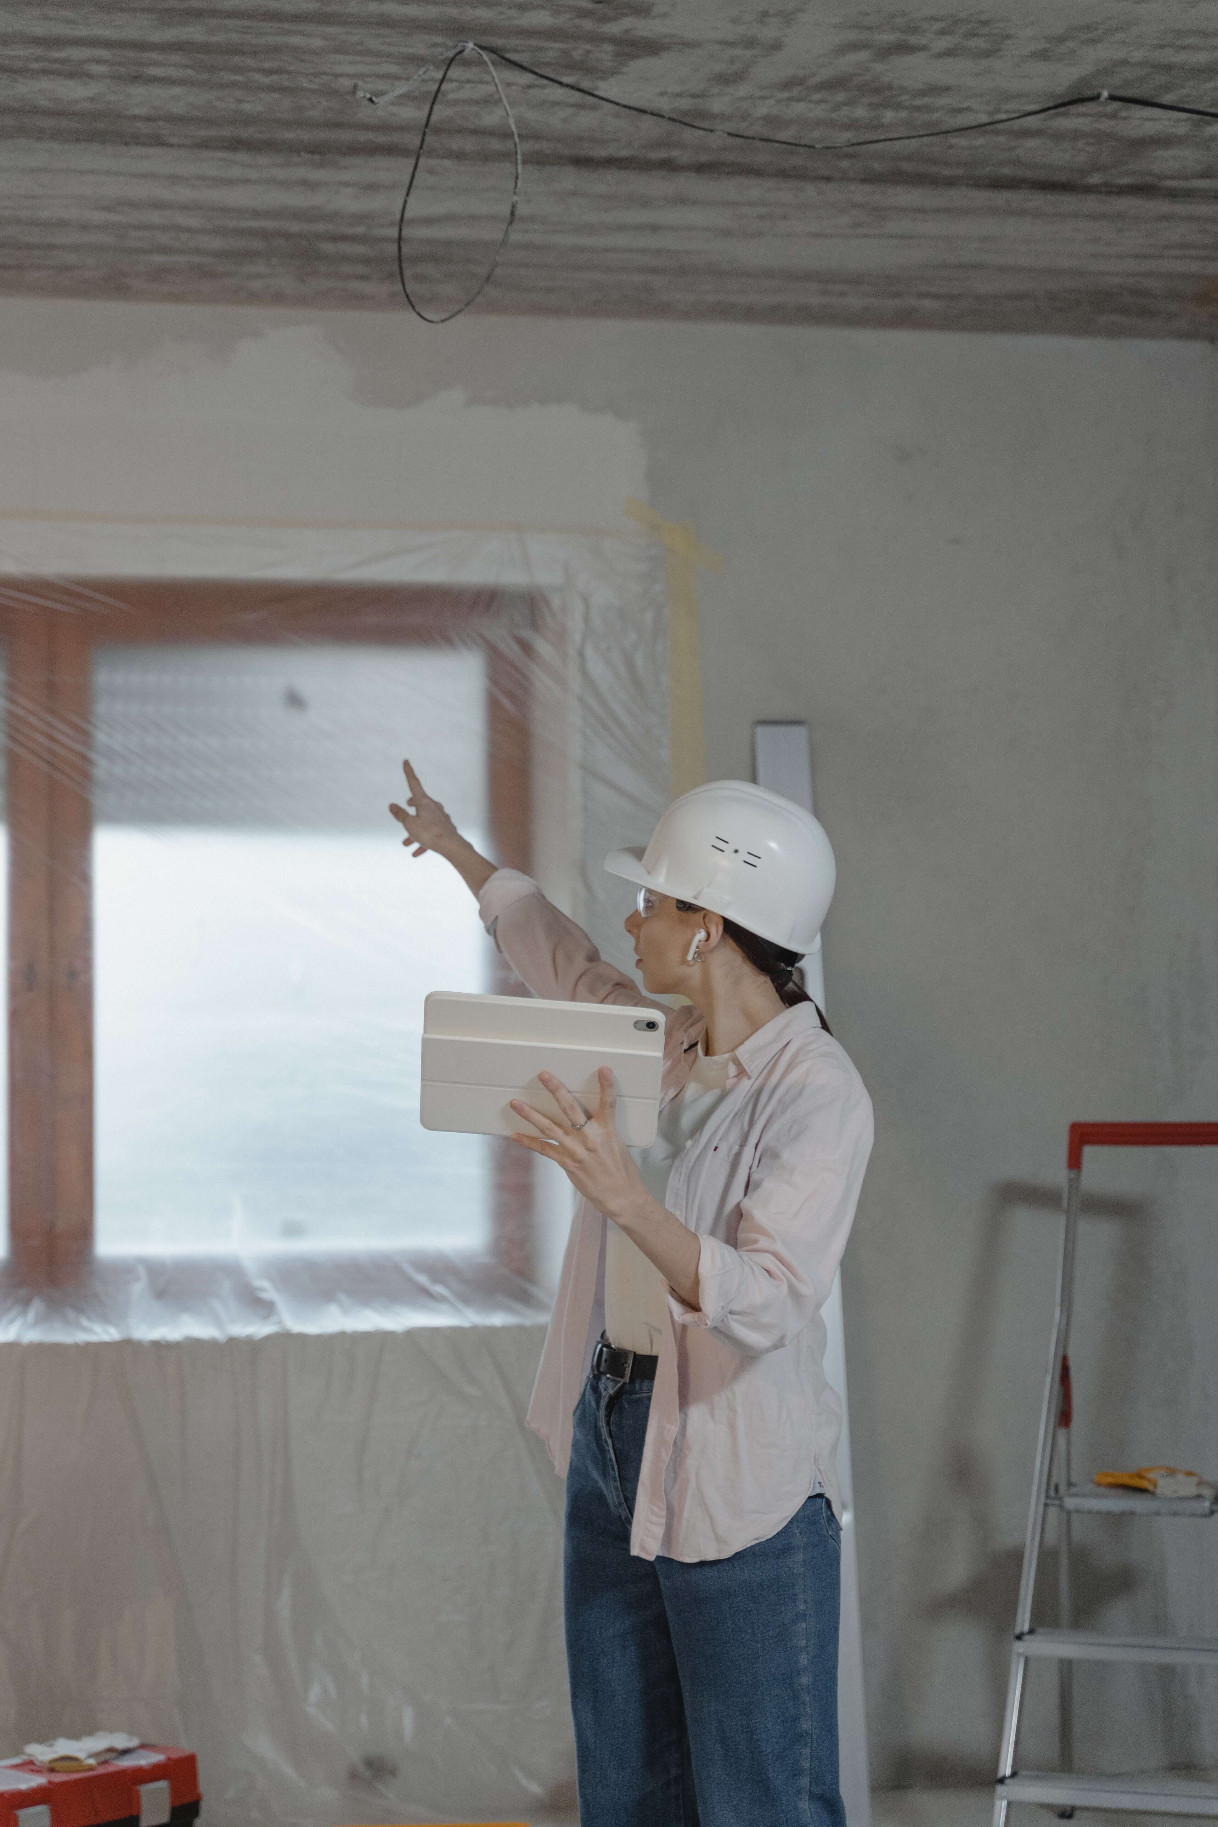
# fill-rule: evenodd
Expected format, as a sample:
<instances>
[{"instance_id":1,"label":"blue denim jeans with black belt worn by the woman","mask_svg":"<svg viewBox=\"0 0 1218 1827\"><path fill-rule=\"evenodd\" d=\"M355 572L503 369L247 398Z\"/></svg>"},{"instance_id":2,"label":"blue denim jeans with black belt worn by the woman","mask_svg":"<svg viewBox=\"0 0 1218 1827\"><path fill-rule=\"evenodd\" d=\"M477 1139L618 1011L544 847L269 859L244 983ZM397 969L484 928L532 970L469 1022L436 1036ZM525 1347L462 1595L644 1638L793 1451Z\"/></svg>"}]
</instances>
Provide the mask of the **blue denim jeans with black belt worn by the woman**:
<instances>
[{"instance_id":1,"label":"blue denim jeans with black belt worn by the woman","mask_svg":"<svg viewBox=\"0 0 1218 1827\"><path fill-rule=\"evenodd\" d=\"M581 1827L845 1827L842 1537L811 1496L727 1560L639 1560L652 1385L590 1376L566 1474L564 1613Z\"/></svg>"}]
</instances>

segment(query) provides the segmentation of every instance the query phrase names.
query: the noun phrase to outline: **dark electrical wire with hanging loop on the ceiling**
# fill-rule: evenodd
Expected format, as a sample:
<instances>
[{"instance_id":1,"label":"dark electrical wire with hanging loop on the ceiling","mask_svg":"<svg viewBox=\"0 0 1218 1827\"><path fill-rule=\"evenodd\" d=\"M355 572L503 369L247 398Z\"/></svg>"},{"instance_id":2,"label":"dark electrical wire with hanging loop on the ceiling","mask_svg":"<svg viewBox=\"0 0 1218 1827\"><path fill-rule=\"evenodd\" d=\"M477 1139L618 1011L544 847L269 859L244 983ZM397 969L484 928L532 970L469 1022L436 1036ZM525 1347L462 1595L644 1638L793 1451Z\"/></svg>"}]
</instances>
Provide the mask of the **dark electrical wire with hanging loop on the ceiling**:
<instances>
[{"instance_id":1,"label":"dark electrical wire with hanging loop on the ceiling","mask_svg":"<svg viewBox=\"0 0 1218 1827\"><path fill-rule=\"evenodd\" d=\"M508 219L504 223L504 232L499 238L495 254L491 256L489 267L482 274L473 292L469 292L469 296L460 305L457 305L455 311L447 311L444 316L436 318L422 311L411 298L411 289L405 278L405 247L404 247L405 216L409 210L411 194L415 190L415 181L418 177L418 168L422 164L424 146L427 144L431 117L435 115L436 102L440 100L440 91L447 82L453 64L460 57L466 57L471 51L477 53L486 64L491 82L495 84L495 95L499 97L499 102L504 110L508 128L511 132L515 175L511 183L511 203L508 205ZM1121 108L1154 108L1160 110L1161 113L1192 115L1198 121L1218 121L1218 108L1194 108L1187 102L1163 102L1145 95L1119 95L1114 90L1088 90L1083 95L1066 95L1063 100L1041 102L1037 108L1019 108L1015 113L984 115L981 121L959 121L953 126L913 128L902 133L866 133L860 135L858 139L789 139L782 133L751 133L745 128L712 126L707 121L690 121L685 115L668 113L663 108L648 108L643 102L626 102L621 100L621 97L617 95L604 95L601 90L590 90L583 82L572 82L566 77L555 77L548 69L537 69L533 64L526 64L519 57L509 57L508 51L499 51L493 44L475 44L473 38L464 38L460 44L455 44L447 51L444 51L442 57L436 57L429 64L424 64L424 68L416 69L415 75L407 77L405 82L400 82L393 90L385 90L382 95L374 95L371 90L362 90L358 84L354 91L360 100L383 108L389 102L398 100L402 95L407 95L413 88L416 88L429 75L433 75L433 71L440 69L440 77L431 95L431 102L427 104L424 126L418 135L418 146L415 148L415 159L411 163L411 175L405 185L405 195L402 197L402 208L398 212L398 280L402 283L402 296L405 298L415 316L422 318L424 323L451 323L453 318L458 318L462 311L467 311L469 305L477 298L480 298L480 294L489 285L495 269L499 267L499 261L502 258L504 248L508 247L508 238L511 236L517 219L517 208L520 203L520 170L522 170L520 135L517 132L515 115L511 113L511 104L504 95L499 73L491 58L497 58L500 64L506 64L511 69L519 69L526 77L533 77L537 82L548 82L555 90L568 90L572 95L583 95L586 100L601 102L606 108L621 108L626 113L646 115L650 121L665 121L668 122L668 126L679 126L690 133L710 133L716 135L718 139L749 141L754 146L783 146L789 152L856 152L864 146L904 146L919 139L951 139L961 133L984 133L990 128L1012 126L1019 121L1037 121L1043 115L1063 113L1068 108L1090 108L1096 102L1114 102Z\"/></svg>"}]
</instances>

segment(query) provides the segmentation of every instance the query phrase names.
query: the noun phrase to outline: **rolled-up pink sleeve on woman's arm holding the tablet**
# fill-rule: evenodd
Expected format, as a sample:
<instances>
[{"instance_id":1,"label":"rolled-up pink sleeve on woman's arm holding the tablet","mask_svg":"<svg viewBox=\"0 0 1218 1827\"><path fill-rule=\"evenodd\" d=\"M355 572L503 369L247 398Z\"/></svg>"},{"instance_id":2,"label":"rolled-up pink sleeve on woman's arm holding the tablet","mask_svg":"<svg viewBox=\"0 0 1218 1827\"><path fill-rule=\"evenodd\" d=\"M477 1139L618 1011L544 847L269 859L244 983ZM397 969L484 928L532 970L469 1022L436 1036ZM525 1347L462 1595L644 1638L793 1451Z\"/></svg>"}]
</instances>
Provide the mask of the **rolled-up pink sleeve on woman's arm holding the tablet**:
<instances>
[{"instance_id":1,"label":"rolled-up pink sleeve on woman's arm holding the tablet","mask_svg":"<svg viewBox=\"0 0 1218 1827\"><path fill-rule=\"evenodd\" d=\"M736 1242L699 1233L698 1308L677 1325L749 1357L789 1345L829 1299L873 1140L871 1100L833 1060L800 1061L767 1113Z\"/></svg>"}]
</instances>

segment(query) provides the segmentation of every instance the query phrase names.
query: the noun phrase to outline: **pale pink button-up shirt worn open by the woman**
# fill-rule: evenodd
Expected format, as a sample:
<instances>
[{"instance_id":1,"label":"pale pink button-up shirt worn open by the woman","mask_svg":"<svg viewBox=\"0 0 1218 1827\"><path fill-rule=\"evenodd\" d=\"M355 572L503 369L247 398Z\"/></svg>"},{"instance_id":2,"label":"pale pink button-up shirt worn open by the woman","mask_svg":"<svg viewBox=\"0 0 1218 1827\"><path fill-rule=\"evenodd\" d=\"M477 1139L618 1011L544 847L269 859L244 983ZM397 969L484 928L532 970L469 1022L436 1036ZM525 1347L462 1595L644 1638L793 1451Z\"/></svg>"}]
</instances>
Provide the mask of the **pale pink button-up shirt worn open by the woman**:
<instances>
[{"instance_id":1,"label":"pale pink button-up shirt worn open by the woman","mask_svg":"<svg viewBox=\"0 0 1218 1827\"><path fill-rule=\"evenodd\" d=\"M515 870L480 895L482 921L535 996L663 1009ZM705 1019L665 1009L661 1102L685 1087ZM811 1003L785 1009L732 1056L729 1091L677 1156L667 1206L701 1241L698 1310L668 1290L630 1551L721 1560L776 1535L816 1478L840 1515L842 1405L824 1374L820 1308L871 1153L871 1100ZM604 1235L579 1200L528 1425L559 1474L604 1326Z\"/></svg>"}]
</instances>

